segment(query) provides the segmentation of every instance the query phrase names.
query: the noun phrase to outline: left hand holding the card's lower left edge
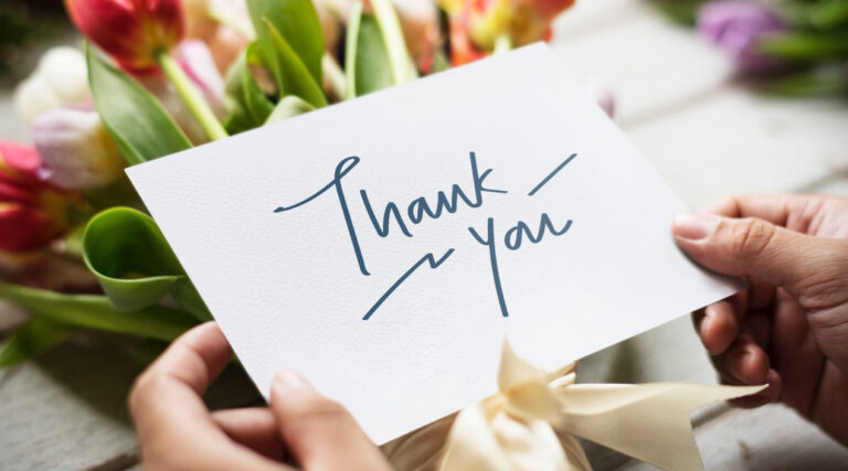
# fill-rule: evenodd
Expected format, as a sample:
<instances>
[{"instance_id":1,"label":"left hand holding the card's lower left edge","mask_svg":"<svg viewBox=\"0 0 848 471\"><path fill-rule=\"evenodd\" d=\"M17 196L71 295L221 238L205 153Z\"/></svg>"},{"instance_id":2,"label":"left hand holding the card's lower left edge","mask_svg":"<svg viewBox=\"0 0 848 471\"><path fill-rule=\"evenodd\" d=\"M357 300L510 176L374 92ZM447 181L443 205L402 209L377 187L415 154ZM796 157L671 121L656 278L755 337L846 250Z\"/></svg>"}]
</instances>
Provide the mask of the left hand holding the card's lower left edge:
<instances>
[{"instance_id":1,"label":"left hand holding the card's lower left edge","mask_svg":"<svg viewBox=\"0 0 848 471\"><path fill-rule=\"evenodd\" d=\"M306 381L280 372L271 408L210 413L202 396L230 362L214 322L179 339L136 381L129 409L141 460L152 470L389 470L383 456L343 407Z\"/></svg>"}]
</instances>

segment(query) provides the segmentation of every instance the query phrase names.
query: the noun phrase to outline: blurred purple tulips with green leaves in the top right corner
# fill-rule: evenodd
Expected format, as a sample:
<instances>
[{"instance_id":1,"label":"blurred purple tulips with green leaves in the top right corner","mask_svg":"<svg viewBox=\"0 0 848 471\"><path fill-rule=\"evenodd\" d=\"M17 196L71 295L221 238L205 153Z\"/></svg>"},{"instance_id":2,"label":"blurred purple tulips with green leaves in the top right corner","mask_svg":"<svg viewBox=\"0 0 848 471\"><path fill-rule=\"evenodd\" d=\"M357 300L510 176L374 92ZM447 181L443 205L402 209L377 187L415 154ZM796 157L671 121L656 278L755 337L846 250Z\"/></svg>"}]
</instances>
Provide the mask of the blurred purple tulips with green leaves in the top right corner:
<instances>
[{"instance_id":1,"label":"blurred purple tulips with green leaves in the top right corner","mask_svg":"<svg viewBox=\"0 0 848 471\"><path fill-rule=\"evenodd\" d=\"M848 1L661 1L725 51L741 75L787 96L848 94Z\"/></svg>"}]
</instances>

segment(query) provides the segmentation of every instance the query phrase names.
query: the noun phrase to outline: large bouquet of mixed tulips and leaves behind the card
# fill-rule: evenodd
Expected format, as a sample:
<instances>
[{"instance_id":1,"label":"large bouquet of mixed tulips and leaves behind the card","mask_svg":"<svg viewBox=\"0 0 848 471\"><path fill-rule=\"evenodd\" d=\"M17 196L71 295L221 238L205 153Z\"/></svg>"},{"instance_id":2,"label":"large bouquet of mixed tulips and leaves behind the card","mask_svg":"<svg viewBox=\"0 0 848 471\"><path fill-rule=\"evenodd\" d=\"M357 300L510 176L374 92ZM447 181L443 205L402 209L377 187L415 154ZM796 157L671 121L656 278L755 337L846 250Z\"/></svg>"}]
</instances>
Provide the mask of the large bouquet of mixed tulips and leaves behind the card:
<instances>
[{"instance_id":1,"label":"large bouquet of mixed tulips and leaves behind the card","mask_svg":"<svg viewBox=\"0 0 848 471\"><path fill-rule=\"evenodd\" d=\"M0 142L0 366L76 329L167 343L210 313L124 168L550 36L573 0L65 0L86 36ZM496 97L492 97L496 99Z\"/></svg>"}]
</instances>

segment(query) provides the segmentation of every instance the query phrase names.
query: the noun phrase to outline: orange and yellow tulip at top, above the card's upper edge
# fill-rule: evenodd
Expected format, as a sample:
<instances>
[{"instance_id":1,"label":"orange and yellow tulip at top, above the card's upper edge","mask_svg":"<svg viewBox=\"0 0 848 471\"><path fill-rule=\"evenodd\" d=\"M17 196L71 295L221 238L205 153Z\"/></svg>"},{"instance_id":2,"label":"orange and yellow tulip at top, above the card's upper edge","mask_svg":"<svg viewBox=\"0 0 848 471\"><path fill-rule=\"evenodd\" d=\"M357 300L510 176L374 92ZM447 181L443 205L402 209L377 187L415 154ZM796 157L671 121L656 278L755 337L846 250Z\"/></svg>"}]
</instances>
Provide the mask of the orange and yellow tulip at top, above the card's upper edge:
<instances>
[{"instance_id":1,"label":"orange and yellow tulip at top, above the card's upper edge","mask_svg":"<svg viewBox=\"0 0 848 471\"><path fill-rule=\"evenodd\" d=\"M574 0L438 0L451 20L454 64L498 47L547 40L551 23ZM454 40L459 42L454 45Z\"/></svg>"}]
</instances>

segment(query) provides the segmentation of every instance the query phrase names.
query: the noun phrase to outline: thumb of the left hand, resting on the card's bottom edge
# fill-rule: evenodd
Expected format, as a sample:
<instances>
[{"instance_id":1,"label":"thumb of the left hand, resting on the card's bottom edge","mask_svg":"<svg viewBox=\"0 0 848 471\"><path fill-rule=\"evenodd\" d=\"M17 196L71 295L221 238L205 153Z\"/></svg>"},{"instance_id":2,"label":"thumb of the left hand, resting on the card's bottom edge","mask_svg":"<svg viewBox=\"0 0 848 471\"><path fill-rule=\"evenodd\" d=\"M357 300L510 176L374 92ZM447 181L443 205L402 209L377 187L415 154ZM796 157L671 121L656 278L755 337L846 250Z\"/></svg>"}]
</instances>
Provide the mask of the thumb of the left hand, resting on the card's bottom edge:
<instances>
[{"instance_id":1,"label":"thumb of the left hand, resting on the card's bottom edge","mask_svg":"<svg viewBox=\"0 0 848 471\"><path fill-rule=\"evenodd\" d=\"M279 435L304 469L389 470L383 456L341 405L296 373L280 372L271 387Z\"/></svg>"}]
</instances>

